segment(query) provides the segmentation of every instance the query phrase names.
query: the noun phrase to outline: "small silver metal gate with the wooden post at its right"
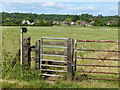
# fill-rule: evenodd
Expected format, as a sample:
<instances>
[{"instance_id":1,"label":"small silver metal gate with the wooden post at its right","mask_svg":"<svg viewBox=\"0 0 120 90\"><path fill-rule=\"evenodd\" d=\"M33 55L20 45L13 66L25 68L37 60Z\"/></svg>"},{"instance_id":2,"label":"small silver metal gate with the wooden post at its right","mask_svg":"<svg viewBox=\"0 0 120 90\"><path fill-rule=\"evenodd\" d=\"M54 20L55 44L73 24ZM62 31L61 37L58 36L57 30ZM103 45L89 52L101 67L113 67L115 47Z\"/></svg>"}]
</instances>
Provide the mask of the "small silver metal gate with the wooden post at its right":
<instances>
[{"instance_id":1,"label":"small silver metal gate with the wooden post at its right","mask_svg":"<svg viewBox=\"0 0 120 90\"><path fill-rule=\"evenodd\" d=\"M70 38L42 37L40 41L40 72L42 76L73 77L74 40Z\"/></svg>"}]
</instances>

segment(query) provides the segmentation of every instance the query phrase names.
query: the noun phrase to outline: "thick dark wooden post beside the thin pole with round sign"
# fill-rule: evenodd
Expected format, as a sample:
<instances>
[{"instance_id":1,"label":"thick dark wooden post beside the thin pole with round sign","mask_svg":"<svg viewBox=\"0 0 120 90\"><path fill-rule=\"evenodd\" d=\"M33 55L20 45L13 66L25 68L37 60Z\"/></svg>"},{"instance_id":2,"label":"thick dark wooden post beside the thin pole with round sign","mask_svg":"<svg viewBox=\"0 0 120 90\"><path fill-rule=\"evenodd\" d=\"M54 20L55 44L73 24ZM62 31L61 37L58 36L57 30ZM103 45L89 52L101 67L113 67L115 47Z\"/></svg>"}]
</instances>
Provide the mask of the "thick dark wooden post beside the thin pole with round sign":
<instances>
[{"instance_id":1,"label":"thick dark wooden post beside the thin pole with round sign","mask_svg":"<svg viewBox=\"0 0 120 90\"><path fill-rule=\"evenodd\" d=\"M23 62L25 66L30 66L30 37L23 38Z\"/></svg>"}]
</instances>

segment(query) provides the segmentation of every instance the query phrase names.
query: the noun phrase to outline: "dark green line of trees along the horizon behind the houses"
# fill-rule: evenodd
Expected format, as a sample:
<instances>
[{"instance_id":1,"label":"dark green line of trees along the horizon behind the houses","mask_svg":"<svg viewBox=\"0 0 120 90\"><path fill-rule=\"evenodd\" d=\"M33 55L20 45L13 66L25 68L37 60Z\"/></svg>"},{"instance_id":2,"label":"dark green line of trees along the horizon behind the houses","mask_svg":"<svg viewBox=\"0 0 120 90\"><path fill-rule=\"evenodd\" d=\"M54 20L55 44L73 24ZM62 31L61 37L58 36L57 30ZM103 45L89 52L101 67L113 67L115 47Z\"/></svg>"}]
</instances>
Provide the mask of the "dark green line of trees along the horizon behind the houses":
<instances>
[{"instance_id":1,"label":"dark green line of trees along the horizon behind the houses","mask_svg":"<svg viewBox=\"0 0 120 90\"><path fill-rule=\"evenodd\" d=\"M115 16L93 16L89 14L81 14L81 15L58 15L58 14L35 14L35 13L8 13L1 12L2 23L3 26L21 26L28 25L26 23L29 21L30 23L34 22L31 25L34 26L52 26L54 25L54 21L65 21L68 22L76 22L77 24L81 22L91 23L93 26L119 26L118 15ZM22 23L25 21L24 24Z\"/></svg>"}]
</instances>

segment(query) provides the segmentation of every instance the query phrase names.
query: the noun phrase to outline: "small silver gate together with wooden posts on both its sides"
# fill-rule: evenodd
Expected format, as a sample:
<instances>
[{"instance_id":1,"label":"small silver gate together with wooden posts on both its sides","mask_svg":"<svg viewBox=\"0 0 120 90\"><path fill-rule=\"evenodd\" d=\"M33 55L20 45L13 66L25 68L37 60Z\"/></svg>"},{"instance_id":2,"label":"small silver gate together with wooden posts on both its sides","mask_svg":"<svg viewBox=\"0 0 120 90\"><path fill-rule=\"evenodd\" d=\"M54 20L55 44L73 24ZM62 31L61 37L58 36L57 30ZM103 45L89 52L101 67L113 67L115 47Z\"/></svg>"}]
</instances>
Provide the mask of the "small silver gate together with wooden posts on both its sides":
<instances>
[{"instance_id":1,"label":"small silver gate together with wooden posts on both its sides","mask_svg":"<svg viewBox=\"0 0 120 90\"><path fill-rule=\"evenodd\" d=\"M41 76L66 75L68 80L73 79L74 39L42 37L30 45L30 37L24 38L22 64L31 67L35 62L34 69L40 70Z\"/></svg>"}]
</instances>

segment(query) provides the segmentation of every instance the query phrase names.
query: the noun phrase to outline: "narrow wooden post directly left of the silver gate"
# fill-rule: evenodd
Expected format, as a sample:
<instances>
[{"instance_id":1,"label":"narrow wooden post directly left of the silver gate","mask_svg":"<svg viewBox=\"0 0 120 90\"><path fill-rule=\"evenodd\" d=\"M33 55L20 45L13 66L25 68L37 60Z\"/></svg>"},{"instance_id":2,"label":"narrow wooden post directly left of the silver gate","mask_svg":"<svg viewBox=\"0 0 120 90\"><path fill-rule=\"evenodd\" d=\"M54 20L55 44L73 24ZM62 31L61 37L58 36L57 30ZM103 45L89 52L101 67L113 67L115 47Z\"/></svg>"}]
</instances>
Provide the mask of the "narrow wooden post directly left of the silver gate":
<instances>
[{"instance_id":1,"label":"narrow wooden post directly left of the silver gate","mask_svg":"<svg viewBox=\"0 0 120 90\"><path fill-rule=\"evenodd\" d=\"M40 69L40 40L36 41L35 46L35 69Z\"/></svg>"}]
</instances>

